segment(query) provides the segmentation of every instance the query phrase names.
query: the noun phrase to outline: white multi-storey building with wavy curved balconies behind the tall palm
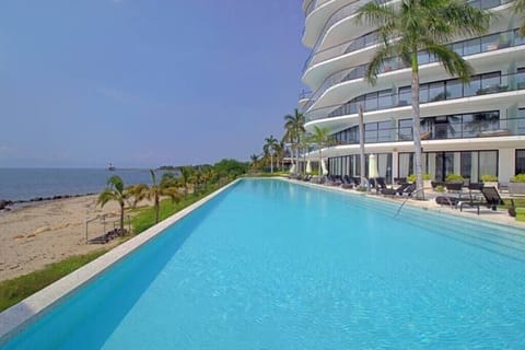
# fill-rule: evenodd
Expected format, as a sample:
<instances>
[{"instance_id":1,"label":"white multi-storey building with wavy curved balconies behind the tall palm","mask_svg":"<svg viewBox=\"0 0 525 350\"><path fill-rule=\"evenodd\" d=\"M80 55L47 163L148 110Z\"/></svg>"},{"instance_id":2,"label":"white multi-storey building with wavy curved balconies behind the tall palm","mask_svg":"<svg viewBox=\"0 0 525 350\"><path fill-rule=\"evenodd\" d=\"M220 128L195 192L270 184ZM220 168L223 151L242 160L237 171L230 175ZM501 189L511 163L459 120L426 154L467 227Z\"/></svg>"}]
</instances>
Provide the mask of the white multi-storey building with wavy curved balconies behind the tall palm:
<instances>
[{"instance_id":1,"label":"white multi-storey building with wavy curved balconies behind the tall palm","mask_svg":"<svg viewBox=\"0 0 525 350\"><path fill-rule=\"evenodd\" d=\"M376 28L355 23L357 10L368 1L304 0L302 40L312 52L302 80L312 93L300 97L300 106L306 130L326 127L337 140L322 152L329 173L359 176L361 105L365 153L376 155L380 176L392 182L413 174L411 70L393 58L374 86L363 78L377 48ZM525 173L522 19L509 1L471 3L499 15L488 34L450 43L475 69L470 83L448 75L427 52L419 56L423 173L435 180L454 173L470 182L485 174L509 182Z\"/></svg>"}]
</instances>

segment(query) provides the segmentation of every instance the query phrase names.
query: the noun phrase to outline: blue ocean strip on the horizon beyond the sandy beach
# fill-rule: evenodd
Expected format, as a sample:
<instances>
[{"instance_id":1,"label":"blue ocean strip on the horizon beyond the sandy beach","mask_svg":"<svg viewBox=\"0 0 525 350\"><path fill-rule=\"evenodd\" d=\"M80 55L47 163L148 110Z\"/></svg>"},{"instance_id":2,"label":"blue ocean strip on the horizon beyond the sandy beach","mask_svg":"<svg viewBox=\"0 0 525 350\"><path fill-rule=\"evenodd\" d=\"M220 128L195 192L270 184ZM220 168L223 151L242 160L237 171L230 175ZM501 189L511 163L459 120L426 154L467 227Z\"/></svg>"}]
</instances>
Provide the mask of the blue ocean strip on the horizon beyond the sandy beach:
<instances>
[{"instance_id":1,"label":"blue ocean strip on the horizon beyond the sandy beach","mask_svg":"<svg viewBox=\"0 0 525 350\"><path fill-rule=\"evenodd\" d=\"M158 172L160 180L163 172ZM54 196L101 192L112 175L122 178L126 186L151 185L149 170L117 168L1 168L0 200L31 200Z\"/></svg>"}]
</instances>

